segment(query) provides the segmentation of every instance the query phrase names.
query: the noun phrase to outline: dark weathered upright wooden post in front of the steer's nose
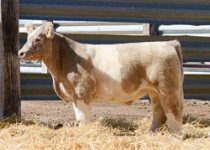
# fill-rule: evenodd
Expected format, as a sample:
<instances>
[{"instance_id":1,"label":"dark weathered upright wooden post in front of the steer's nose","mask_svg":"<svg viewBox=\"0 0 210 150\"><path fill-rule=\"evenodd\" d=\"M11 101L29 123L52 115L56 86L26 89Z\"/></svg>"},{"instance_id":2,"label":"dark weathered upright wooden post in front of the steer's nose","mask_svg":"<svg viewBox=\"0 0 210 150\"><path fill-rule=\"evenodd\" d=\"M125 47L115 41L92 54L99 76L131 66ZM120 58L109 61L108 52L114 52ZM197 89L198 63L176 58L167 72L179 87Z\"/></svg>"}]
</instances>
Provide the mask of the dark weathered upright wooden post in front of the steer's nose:
<instances>
[{"instance_id":1,"label":"dark weathered upright wooden post in front of the steer's nose","mask_svg":"<svg viewBox=\"0 0 210 150\"><path fill-rule=\"evenodd\" d=\"M0 0L0 118L20 115L19 0Z\"/></svg>"}]
</instances>

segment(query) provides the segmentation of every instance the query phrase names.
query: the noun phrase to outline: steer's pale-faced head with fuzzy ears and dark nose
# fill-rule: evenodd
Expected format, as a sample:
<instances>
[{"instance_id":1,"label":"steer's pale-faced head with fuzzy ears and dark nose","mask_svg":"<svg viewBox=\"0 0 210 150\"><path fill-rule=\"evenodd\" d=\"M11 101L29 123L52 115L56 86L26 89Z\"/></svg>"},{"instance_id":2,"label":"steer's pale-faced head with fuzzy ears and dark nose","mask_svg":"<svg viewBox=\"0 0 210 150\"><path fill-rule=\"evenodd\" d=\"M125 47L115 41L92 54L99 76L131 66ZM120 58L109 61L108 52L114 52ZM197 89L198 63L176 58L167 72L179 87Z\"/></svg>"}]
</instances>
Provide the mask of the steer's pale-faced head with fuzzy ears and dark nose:
<instances>
[{"instance_id":1,"label":"steer's pale-faced head with fuzzy ears and dark nose","mask_svg":"<svg viewBox=\"0 0 210 150\"><path fill-rule=\"evenodd\" d=\"M19 57L25 60L43 60L50 54L52 49L52 39L54 38L53 24L45 22L39 27L26 24L25 28L28 38L22 49L18 51Z\"/></svg>"}]
</instances>

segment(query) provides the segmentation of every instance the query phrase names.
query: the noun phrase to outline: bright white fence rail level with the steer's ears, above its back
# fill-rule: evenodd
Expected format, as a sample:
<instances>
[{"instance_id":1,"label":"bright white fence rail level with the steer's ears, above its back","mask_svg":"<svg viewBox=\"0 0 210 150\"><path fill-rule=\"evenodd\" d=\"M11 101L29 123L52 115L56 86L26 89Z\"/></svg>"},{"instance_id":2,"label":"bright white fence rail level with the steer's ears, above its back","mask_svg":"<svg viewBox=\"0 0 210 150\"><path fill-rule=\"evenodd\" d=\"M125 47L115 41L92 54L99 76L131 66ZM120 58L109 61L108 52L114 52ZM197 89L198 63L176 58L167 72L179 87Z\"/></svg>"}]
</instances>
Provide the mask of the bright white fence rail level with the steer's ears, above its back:
<instances>
[{"instance_id":1,"label":"bright white fence rail level with the steer's ears, above its back","mask_svg":"<svg viewBox=\"0 0 210 150\"><path fill-rule=\"evenodd\" d=\"M19 32L26 33L24 25L33 23L41 25L41 20L20 20ZM58 21L53 20L56 32L65 34L132 34L143 35L145 25L126 22L96 22L96 21ZM158 32L163 36L203 36L210 37L210 25L160 25Z\"/></svg>"}]
</instances>

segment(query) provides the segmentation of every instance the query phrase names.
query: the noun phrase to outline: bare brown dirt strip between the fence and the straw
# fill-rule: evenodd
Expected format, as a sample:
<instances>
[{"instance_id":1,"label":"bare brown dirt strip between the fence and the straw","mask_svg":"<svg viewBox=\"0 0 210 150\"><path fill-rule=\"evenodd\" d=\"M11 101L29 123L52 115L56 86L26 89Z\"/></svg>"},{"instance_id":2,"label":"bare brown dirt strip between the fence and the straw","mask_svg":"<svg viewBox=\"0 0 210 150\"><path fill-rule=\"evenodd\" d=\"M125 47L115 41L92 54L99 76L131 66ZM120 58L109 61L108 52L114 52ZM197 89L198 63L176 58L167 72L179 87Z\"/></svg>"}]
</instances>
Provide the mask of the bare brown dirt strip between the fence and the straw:
<instances>
[{"instance_id":1,"label":"bare brown dirt strip between the fence and the straw","mask_svg":"<svg viewBox=\"0 0 210 150\"><path fill-rule=\"evenodd\" d=\"M21 102L22 118L34 122L49 124L65 124L75 120L71 103L57 101L26 101ZM185 100L184 115L210 122L210 101ZM100 117L125 118L139 120L152 117L151 105L148 100L141 100L132 105L93 104L92 120Z\"/></svg>"}]
</instances>

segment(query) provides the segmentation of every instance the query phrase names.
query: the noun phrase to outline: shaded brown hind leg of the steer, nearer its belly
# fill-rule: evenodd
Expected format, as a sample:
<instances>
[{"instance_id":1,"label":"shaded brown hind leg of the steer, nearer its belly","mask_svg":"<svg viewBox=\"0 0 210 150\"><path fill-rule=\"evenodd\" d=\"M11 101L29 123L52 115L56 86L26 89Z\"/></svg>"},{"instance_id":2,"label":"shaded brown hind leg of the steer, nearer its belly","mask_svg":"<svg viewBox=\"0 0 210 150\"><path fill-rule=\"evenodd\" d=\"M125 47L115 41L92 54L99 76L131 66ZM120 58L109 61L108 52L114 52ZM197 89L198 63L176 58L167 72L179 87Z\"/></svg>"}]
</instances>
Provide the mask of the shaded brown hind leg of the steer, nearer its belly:
<instances>
[{"instance_id":1,"label":"shaded brown hind leg of the steer, nearer its belly","mask_svg":"<svg viewBox=\"0 0 210 150\"><path fill-rule=\"evenodd\" d=\"M155 132L166 122L166 116L158 96L151 97L153 120L150 130Z\"/></svg>"}]
</instances>

